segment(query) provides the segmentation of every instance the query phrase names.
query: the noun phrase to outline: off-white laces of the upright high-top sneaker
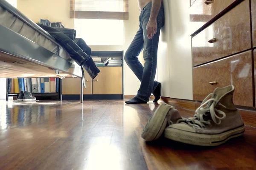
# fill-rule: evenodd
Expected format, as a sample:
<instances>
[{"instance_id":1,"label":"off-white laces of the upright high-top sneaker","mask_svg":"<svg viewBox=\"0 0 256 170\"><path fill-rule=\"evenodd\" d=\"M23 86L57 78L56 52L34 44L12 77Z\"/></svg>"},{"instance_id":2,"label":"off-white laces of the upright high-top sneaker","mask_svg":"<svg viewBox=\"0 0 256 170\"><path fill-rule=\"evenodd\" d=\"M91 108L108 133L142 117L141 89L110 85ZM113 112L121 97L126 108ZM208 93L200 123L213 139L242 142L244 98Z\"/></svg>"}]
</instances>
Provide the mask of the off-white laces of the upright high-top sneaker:
<instances>
[{"instance_id":1,"label":"off-white laces of the upright high-top sneaker","mask_svg":"<svg viewBox=\"0 0 256 170\"><path fill-rule=\"evenodd\" d=\"M211 120L207 120L207 121L204 120L204 116L208 116L208 114L210 113L212 121L215 122L217 125L221 124L221 119L225 119L226 114L223 111L216 109L215 106L221 105L224 108L226 107L222 105L220 102L218 102L218 100L215 98L208 99L210 96L212 96L212 94L209 94L204 99L201 106L195 111L195 115L193 117L190 117L188 119L180 119L178 123L185 122L190 126L203 128L203 127L206 127L207 125L211 125ZM218 116L216 112L222 115L222 117Z\"/></svg>"}]
</instances>

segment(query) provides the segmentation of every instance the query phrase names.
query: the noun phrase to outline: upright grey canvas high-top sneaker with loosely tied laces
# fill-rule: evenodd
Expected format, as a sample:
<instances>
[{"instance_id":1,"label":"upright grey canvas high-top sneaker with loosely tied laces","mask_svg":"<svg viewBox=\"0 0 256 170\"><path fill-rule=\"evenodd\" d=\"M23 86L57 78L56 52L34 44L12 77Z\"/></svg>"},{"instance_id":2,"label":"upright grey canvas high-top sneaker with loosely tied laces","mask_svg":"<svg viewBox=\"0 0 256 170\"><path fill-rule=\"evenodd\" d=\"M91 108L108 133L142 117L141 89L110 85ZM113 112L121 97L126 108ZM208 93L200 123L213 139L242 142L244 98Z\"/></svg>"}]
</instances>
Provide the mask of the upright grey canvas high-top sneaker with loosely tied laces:
<instances>
[{"instance_id":1,"label":"upright grey canvas high-top sneaker with loosely tied laces","mask_svg":"<svg viewBox=\"0 0 256 170\"><path fill-rule=\"evenodd\" d=\"M233 104L234 90L233 85L216 88L204 99L194 117L168 126L164 136L187 144L217 146L243 135L244 122Z\"/></svg>"}]
</instances>

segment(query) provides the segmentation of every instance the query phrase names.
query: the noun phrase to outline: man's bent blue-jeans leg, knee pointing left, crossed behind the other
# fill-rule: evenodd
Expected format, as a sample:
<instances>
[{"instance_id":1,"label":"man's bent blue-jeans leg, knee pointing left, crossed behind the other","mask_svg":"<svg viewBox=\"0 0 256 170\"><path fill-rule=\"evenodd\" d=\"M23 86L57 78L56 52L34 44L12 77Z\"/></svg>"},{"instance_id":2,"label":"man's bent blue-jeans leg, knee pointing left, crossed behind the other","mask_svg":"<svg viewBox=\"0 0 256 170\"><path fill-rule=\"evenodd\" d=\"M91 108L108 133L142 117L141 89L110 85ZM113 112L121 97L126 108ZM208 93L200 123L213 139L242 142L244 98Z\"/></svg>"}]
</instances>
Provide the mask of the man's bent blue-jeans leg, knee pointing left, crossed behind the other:
<instances>
[{"instance_id":1,"label":"man's bent blue-jeans leg, knee pointing left, crossed behind the other","mask_svg":"<svg viewBox=\"0 0 256 170\"><path fill-rule=\"evenodd\" d=\"M140 26L139 30L137 31L134 40L131 42L130 46L128 47L127 51L125 52L125 62L137 76L137 78L142 81L143 77L143 70L144 67L140 63L138 56L140 52L143 50L144 45L144 38L143 38L143 28ZM154 81L154 88L157 87L159 82Z\"/></svg>"}]
</instances>

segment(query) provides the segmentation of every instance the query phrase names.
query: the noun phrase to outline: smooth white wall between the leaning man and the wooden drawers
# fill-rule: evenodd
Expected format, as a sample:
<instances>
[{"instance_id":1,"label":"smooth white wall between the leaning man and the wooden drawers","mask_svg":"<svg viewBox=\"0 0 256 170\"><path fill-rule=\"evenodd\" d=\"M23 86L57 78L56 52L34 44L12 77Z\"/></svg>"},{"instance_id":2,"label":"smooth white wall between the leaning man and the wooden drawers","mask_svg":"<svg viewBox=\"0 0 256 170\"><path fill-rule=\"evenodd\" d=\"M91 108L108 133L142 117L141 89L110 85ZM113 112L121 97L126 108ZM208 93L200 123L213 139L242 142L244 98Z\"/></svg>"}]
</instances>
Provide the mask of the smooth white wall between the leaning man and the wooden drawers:
<instances>
[{"instance_id":1,"label":"smooth white wall between the leaning man and the wooden drawers","mask_svg":"<svg viewBox=\"0 0 256 170\"><path fill-rule=\"evenodd\" d=\"M162 96L193 99L191 37L189 34L190 0L163 0L165 26L158 50L158 81Z\"/></svg>"}]
</instances>

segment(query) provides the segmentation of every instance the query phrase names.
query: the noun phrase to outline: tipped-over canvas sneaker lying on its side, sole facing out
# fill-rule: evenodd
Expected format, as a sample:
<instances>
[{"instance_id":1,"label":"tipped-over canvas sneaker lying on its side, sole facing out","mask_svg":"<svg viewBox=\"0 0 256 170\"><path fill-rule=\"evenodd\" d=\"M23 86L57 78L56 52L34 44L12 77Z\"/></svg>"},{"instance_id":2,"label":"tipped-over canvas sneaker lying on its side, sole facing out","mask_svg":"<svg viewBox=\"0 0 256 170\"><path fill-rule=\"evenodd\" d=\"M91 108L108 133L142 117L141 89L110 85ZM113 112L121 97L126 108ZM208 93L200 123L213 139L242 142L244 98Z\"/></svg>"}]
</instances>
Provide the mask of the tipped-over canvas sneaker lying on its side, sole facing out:
<instances>
[{"instance_id":1,"label":"tipped-over canvas sneaker lying on its side, sole facing out","mask_svg":"<svg viewBox=\"0 0 256 170\"><path fill-rule=\"evenodd\" d=\"M145 125L141 137L147 142L157 140L165 128L176 123L178 119L182 118L173 106L161 103Z\"/></svg>"}]
</instances>

